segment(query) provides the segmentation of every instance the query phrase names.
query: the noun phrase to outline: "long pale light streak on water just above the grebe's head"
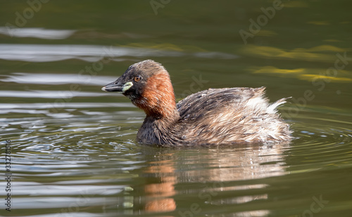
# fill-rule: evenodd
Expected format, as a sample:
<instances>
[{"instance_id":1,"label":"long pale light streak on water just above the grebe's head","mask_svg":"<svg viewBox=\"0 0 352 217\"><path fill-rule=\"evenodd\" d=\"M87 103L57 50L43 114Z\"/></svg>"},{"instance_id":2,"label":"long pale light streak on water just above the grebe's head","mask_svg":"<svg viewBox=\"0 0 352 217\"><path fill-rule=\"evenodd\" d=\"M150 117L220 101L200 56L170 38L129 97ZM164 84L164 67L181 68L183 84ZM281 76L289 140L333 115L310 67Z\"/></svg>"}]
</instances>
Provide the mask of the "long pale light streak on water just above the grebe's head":
<instances>
[{"instance_id":1,"label":"long pale light streak on water just above the grebe's head","mask_svg":"<svg viewBox=\"0 0 352 217\"><path fill-rule=\"evenodd\" d=\"M51 62L69 59L96 62L104 58L119 61L120 57L177 57L191 55L199 58L234 59L237 55L221 52L185 53L162 51L153 48L127 48L94 45L49 45L49 44L0 44L0 59L27 62Z\"/></svg>"}]
</instances>

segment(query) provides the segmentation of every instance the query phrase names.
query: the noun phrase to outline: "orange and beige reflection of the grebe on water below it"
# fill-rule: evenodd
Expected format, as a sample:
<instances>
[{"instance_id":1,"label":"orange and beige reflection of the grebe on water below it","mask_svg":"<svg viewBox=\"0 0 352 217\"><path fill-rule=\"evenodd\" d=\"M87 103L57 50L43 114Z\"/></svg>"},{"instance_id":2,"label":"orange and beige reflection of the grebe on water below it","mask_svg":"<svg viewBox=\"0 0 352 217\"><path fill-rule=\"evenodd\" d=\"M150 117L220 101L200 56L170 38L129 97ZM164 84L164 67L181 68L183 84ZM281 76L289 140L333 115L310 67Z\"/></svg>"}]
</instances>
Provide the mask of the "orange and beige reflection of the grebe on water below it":
<instances>
[{"instance_id":1,"label":"orange and beige reflection of the grebe on water below it","mask_svg":"<svg viewBox=\"0 0 352 217\"><path fill-rule=\"evenodd\" d=\"M143 210L134 211L194 216L203 211L206 213L209 206L214 209L214 206L234 206L268 199L266 193L253 192L268 187L266 180L260 179L287 173L282 153L287 147L289 144L161 149L153 153L156 161L150 162L144 169L147 182L150 182L141 194L145 197L134 200L138 204L134 208ZM177 183L183 186L188 183L191 187L188 190L177 189ZM232 216L265 216L268 213L268 210L239 209Z\"/></svg>"}]
</instances>

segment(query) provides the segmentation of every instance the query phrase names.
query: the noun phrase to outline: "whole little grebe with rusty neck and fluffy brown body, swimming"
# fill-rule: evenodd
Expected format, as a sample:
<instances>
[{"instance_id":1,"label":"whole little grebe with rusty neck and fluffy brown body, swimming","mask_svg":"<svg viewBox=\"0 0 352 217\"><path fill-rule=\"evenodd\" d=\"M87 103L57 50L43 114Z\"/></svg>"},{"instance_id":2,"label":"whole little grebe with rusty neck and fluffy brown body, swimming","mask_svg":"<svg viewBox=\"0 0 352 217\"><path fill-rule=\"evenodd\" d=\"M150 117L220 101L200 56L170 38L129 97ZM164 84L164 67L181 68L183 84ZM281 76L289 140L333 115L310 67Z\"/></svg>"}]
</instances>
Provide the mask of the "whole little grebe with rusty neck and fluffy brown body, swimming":
<instances>
[{"instance_id":1,"label":"whole little grebe with rusty neck and fluffy brown body, swimming","mask_svg":"<svg viewBox=\"0 0 352 217\"><path fill-rule=\"evenodd\" d=\"M210 88L176 104L170 75L153 60L131 65L103 91L115 91L144 110L137 141L162 146L275 143L291 140L277 114L286 98L268 103L265 87Z\"/></svg>"}]
</instances>

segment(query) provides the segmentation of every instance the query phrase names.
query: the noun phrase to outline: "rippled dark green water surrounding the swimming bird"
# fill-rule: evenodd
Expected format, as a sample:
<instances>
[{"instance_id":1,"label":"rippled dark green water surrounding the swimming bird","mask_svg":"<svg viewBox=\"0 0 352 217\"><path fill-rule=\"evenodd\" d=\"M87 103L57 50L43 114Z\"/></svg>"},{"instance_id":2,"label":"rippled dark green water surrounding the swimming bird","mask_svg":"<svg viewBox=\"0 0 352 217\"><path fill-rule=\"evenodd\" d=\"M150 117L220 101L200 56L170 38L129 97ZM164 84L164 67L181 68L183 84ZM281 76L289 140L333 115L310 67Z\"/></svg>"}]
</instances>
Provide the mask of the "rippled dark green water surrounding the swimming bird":
<instances>
[{"instance_id":1,"label":"rippled dark green water surrounding the swimming bird","mask_svg":"<svg viewBox=\"0 0 352 217\"><path fill-rule=\"evenodd\" d=\"M351 216L350 2L30 2L0 7L1 216ZM296 139L136 143L144 113L101 86L145 59L177 100L292 96L279 112Z\"/></svg>"}]
</instances>

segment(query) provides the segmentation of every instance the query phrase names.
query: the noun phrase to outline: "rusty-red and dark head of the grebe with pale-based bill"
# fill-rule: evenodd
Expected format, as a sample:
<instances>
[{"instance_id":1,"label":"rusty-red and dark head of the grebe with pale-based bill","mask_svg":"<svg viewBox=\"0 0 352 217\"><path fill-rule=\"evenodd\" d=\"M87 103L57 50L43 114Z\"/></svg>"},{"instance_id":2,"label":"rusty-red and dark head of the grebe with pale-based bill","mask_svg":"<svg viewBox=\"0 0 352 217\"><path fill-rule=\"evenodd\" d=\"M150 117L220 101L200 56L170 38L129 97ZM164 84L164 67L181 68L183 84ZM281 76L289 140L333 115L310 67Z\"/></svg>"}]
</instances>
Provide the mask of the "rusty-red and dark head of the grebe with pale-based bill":
<instances>
[{"instance_id":1,"label":"rusty-red and dark head of the grebe with pale-based bill","mask_svg":"<svg viewBox=\"0 0 352 217\"><path fill-rule=\"evenodd\" d=\"M176 110L170 76L163 65L153 60L131 65L121 77L101 89L122 93L147 116L168 117Z\"/></svg>"}]
</instances>

